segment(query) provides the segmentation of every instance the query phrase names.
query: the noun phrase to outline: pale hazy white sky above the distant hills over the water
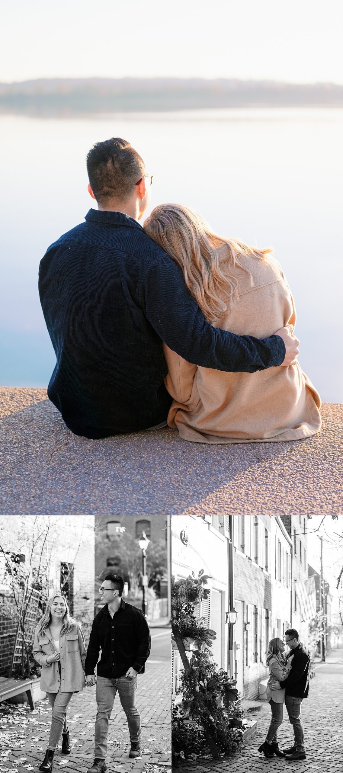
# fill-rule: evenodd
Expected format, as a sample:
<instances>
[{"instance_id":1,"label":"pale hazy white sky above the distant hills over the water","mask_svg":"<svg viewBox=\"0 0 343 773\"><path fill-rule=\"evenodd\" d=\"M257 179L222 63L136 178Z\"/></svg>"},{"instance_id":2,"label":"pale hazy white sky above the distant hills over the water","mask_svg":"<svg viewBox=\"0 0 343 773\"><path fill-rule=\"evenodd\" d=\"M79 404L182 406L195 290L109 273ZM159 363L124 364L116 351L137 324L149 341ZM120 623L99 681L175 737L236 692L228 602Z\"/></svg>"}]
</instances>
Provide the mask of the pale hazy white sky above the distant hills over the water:
<instances>
[{"instance_id":1,"label":"pale hazy white sky above the distant hills over the water","mask_svg":"<svg viewBox=\"0 0 343 773\"><path fill-rule=\"evenodd\" d=\"M343 83L341 0L2 3L0 80L226 77Z\"/></svg>"}]
</instances>

